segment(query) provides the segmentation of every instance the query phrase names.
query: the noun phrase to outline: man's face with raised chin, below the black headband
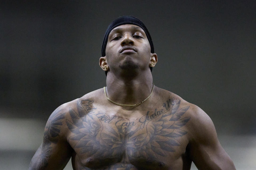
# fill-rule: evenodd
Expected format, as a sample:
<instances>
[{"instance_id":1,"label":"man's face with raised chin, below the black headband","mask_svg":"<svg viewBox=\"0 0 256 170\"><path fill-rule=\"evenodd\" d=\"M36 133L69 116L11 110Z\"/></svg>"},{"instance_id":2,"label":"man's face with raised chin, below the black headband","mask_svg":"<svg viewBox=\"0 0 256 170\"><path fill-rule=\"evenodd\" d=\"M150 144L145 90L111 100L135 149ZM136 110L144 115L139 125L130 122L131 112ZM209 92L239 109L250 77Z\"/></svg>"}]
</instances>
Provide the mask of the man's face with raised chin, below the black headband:
<instances>
[{"instance_id":1,"label":"man's face with raised chin, below the black headband","mask_svg":"<svg viewBox=\"0 0 256 170\"><path fill-rule=\"evenodd\" d=\"M142 28L125 24L115 27L109 34L106 61L112 71L149 69L150 44Z\"/></svg>"}]
</instances>

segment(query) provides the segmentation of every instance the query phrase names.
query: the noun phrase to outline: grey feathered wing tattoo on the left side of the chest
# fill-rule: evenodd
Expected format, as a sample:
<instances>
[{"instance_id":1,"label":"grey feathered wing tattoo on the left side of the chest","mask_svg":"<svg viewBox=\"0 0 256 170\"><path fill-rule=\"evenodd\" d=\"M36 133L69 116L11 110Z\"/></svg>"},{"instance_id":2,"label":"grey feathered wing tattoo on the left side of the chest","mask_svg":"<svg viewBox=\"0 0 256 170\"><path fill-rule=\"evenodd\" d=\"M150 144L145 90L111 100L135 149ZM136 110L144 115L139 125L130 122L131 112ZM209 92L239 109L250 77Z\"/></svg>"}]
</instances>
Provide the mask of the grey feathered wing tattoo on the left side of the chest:
<instances>
[{"instance_id":1,"label":"grey feathered wing tattoo on the left side of the chest","mask_svg":"<svg viewBox=\"0 0 256 170\"><path fill-rule=\"evenodd\" d=\"M80 154L102 155L105 151L105 143L100 140L100 132L103 129L102 123L95 114L92 114L94 108L91 101L82 100L77 102L78 112L69 108L71 121L66 120L70 131L75 135L70 139L77 141L75 148L81 148Z\"/></svg>"}]
</instances>

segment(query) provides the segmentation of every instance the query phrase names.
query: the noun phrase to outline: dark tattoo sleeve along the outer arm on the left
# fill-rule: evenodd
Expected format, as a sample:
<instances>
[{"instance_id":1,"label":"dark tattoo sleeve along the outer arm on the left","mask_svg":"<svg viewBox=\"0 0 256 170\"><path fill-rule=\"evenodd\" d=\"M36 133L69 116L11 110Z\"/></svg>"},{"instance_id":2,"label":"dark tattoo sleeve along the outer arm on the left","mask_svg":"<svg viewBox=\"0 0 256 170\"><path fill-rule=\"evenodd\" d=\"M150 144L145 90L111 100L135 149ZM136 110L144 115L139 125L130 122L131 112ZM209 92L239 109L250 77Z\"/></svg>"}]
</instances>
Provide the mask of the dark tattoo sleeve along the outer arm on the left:
<instances>
[{"instance_id":1,"label":"dark tattoo sleeve along the outer arm on the left","mask_svg":"<svg viewBox=\"0 0 256 170\"><path fill-rule=\"evenodd\" d=\"M62 125L64 115L65 113L62 113L62 110L57 108L49 117L43 134L43 142L33 156L29 169L43 170L47 167L52 149L51 143L58 142L60 126Z\"/></svg>"}]
</instances>

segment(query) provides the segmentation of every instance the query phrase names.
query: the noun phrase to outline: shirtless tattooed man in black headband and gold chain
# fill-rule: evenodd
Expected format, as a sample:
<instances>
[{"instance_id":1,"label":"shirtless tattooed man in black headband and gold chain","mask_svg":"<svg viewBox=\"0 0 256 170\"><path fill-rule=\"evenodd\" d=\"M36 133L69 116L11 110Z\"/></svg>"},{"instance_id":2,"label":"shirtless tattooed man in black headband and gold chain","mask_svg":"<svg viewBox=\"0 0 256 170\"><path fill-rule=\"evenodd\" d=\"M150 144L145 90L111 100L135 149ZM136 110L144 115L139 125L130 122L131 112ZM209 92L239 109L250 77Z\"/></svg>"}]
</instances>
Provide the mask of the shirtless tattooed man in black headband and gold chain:
<instances>
[{"instance_id":1,"label":"shirtless tattooed man in black headband and gold chain","mask_svg":"<svg viewBox=\"0 0 256 170\"><path fill-rule=\"evenodd\" d=\"M106 88L58 107L29 169L235 169L210 117L153 84L157 54L145 25L122 16L108 27L100 67Z\"/></svg>"}]
</instances>

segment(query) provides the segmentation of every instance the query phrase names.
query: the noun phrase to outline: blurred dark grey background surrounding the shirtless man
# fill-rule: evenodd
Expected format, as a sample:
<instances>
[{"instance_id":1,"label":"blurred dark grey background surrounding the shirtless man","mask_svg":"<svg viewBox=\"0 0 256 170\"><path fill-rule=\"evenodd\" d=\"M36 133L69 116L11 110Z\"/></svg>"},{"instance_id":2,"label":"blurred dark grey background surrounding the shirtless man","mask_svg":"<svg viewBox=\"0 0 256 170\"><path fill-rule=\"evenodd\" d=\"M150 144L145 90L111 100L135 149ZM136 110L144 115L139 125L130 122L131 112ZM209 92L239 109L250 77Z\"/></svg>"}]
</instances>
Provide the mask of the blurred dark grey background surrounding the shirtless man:
<instances>
[{"instance_id":1,"label":"blurred dark grey background surrounding the shirtless man","mask_svg":"<svg viewBox=\"0 0 256 170\"><path fill-rule=\"evenodd\" d=\"M1 1L0 169L27 169L54 109L106 85L103 36L122 15L151 34L155 85L201 107L236 168L255 169L255 9L255 1Z\"/></svg>"}]
</instances>

